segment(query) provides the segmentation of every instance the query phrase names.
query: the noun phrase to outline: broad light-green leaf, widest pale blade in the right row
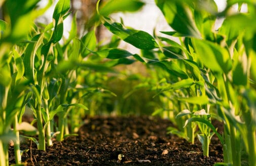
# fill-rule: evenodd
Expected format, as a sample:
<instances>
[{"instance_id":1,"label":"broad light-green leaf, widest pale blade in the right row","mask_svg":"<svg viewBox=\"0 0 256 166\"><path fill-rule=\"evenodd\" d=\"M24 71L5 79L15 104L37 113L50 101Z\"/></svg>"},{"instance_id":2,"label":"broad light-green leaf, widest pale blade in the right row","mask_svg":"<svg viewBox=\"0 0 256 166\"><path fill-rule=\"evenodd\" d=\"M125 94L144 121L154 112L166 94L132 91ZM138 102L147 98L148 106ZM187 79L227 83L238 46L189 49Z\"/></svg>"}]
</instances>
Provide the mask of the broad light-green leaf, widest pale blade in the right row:
<instances>
[{"instance_id":1,"label":"broad light-green leaf, widest pale blade in the right row","mask_svg":"<svg viewBox=\"0 0 256 166\"><path fill-rule=\"evenodd\" d=\"M231 68L229 52L210 41L193 39L199 59L213 72L228 73Z\"/></svg>"}]
</instances>

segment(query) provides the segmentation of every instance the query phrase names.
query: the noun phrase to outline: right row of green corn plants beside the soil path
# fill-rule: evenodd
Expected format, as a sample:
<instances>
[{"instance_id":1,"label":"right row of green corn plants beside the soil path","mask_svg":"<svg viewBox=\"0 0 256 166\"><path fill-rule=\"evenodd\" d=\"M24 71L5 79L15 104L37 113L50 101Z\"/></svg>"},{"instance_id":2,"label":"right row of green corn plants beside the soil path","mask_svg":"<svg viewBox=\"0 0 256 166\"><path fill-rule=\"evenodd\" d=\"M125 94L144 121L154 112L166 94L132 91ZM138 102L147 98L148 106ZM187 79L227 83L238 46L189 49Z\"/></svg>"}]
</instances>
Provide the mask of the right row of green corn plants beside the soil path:
<instances>
[{"instance_id":1,"label":"right row of green corn plants beside the soil path","mask_svg":"<svg viewBox=\"0 0 256 166\"><path fill-rule=\"evenodd\" d=\"M243 151L249 165L256 165L255 1L227 1L223 12L213 0L155 3L173 29L161 33L170 37L127 28L98 11L109 31L141 49L134 58L154 74L158 84L151 89L163 104L154 114L176 123L171 133L192 143L197 136L205 156L216 134L225 162L216 165L241 165ZM217 19L224 22L214 29ZM224 133L217 132L212 117L223 121Z\"/></svg>"}]
</instances>

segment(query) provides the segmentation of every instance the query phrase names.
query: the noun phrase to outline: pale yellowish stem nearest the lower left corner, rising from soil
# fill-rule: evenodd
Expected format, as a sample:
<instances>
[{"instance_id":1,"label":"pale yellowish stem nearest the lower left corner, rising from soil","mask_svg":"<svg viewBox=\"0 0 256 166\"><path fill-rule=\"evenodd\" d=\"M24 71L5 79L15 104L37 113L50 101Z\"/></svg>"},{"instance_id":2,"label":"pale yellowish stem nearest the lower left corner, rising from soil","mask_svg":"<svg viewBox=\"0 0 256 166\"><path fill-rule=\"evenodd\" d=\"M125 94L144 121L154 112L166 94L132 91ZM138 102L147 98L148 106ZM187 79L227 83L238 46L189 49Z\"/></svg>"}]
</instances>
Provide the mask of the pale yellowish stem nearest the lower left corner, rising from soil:
<instances>
[{"instance_id":1,"label":"pale yellowish stem nearest the lower left corner, rising from soil","mask_svg":"<svg viewBox=\"0 0 256 166\"><path fill-rule=\"evenodd\" d=\"M15 153L15 161L16 164L20 164L21 163L21 153L20 153L20 135L19 135L19 131L17 131L17 126L18 126L18 116L17 114L15 115L15 119L14 119L14 125L13 125L13 129L15 132L15 136L16 136L16 140L14 143L14 153Z\"/></svg>"}]
</instances>

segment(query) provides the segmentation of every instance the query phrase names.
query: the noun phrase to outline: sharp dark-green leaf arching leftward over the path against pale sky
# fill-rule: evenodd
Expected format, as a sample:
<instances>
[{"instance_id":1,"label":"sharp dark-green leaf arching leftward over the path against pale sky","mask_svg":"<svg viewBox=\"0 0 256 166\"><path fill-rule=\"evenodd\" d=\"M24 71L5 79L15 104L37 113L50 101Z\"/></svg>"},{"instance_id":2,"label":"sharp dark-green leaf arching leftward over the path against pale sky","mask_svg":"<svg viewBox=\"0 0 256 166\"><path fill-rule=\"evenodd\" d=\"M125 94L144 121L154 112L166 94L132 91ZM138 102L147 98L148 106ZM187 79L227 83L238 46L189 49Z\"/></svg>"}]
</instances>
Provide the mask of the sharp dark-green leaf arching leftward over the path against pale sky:
<instances>
[{"instance_id":1,"label":"sharp dark-green leaf arching leftward over the path against pale sky","mask_svg":"<svg viewBox=\"0 0 256 166\"><path fill-rule=\"evenodd\" d=\"M147 32L125 28L121 23L109 23L105 21L104 26L112 33L134 47L142 50L159 48L155 39Z\"/></svg>"}]
</instances>

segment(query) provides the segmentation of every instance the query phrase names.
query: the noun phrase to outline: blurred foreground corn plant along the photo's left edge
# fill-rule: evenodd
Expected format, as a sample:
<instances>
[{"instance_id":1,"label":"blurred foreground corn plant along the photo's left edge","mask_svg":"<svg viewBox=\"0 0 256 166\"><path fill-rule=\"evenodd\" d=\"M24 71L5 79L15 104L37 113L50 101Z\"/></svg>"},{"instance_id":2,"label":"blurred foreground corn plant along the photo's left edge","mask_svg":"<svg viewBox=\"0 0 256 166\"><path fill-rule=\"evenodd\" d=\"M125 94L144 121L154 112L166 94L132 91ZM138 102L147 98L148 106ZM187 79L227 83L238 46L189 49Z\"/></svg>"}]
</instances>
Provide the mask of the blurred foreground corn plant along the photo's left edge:
<instances>
[{"instance_id":1,"label":"blurred foreground corn plant along the photo's left edge","mask_svg":"<svg viewBox=\"0 0 256 166\"><path fill-rule=\"evenodd\" d=\"M0 3L1 8L4 9L4 20L0 21L0 75L4 78L0 82L1 165L9 165L8 145L11 140L15 144L16 163L21 163L19 131L29 130L20 126L18 121L19 111L24 107L23 101L26 99L25 91L28 88L28 82L23 78L24 64L21 58L23 49L18 47L17 44L22 45L21 41L26 39L33 20L43 14L46 9L43 8L35 12L34 9L37 3L38 1L28 3L10 0ZM11 125L14 127L13 131L11 131Z\"/></svg>"}]
</instances>

